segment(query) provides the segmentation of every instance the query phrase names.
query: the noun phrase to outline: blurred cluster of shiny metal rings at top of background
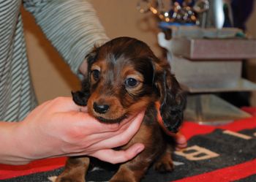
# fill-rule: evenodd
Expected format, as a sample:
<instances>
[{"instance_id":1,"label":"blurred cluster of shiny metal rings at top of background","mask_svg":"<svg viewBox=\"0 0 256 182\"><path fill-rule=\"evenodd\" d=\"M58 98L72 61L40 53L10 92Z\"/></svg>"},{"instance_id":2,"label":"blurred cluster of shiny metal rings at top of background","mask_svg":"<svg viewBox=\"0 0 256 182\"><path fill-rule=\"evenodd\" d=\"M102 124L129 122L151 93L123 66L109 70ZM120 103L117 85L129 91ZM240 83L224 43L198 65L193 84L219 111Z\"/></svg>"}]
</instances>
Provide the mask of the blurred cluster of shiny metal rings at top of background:
<instances>
[{"instance_id":1,"label":"blurred cluster of shiny metal rings at top of background","mask_svg":"<svg viewBox=\"0 0 256 182\"><path fill-rule=\"evenodd\" d=\"M206 26L208 0L184 0L182 3L172 0L139 0L137 9L141 13L152 12L160 21Z\"/></svg>"}]
</instances>

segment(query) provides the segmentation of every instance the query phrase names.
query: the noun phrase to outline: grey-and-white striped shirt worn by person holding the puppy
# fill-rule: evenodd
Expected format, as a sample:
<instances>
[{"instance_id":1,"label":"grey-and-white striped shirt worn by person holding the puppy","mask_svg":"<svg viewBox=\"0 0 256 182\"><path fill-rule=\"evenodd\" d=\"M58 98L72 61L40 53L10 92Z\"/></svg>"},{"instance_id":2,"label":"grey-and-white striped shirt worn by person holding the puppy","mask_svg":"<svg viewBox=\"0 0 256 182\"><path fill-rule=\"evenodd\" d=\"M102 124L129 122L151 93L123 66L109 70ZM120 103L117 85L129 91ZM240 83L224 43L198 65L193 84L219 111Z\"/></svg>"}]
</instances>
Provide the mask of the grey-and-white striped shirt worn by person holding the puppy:
<instances>
[{"instance_id":1,"label":"grey-and-white striped shirt worn by person holding the puppy","mask_svg":"<svg viewBox=\"0 0 256 182\"><path fill-rule=\"evenodd\" d=\"M0 0L0 121L21 121L37 105L29 73L20 6L34 15L72 72L94 44L108 40L85 0Z\"/></svg>"}]
</instances>

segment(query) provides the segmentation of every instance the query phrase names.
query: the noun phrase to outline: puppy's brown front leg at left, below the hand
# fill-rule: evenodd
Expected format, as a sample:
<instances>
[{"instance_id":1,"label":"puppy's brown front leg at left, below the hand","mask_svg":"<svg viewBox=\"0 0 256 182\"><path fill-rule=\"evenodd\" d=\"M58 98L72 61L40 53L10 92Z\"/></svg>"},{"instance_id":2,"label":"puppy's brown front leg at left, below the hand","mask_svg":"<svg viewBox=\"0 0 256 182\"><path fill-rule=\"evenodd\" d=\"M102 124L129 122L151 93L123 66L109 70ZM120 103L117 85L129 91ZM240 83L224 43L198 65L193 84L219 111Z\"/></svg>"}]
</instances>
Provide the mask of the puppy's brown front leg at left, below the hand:
<instances>
[{"instance_id":1,"label":"puppy's brown front leg at left, below the hand","mask_svg":"<svg viewBox=\"0 0 256 182\"><path fill-rule=\"evenodd\" d=\"M56 182L85 182L89 163L89 157L69 157L64 172L59 175Z\"/></svg>"}]
</instances>

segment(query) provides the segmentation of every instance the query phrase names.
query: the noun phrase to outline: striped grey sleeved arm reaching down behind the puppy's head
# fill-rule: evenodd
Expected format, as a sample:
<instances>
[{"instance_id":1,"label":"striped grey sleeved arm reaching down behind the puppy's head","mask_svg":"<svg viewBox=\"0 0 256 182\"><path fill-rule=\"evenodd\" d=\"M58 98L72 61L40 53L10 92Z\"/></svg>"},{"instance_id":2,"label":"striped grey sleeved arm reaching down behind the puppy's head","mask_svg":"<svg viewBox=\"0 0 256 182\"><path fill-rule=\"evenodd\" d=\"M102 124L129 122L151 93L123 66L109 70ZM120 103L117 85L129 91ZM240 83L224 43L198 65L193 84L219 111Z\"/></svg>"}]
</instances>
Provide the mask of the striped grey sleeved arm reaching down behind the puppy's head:
<instances>
[{"instance_id":1,"label":"striped grey sleeved arm reaching down behind the puppy's head","mask_svg":"<svg viewBox=\"0 0 256 182\"><path fill-rule=\"evenodd\" d=\"M24 7L77 75L94 44L108 40L89 1L31 0L24 1Z\"/></svg>"}]
</instances>

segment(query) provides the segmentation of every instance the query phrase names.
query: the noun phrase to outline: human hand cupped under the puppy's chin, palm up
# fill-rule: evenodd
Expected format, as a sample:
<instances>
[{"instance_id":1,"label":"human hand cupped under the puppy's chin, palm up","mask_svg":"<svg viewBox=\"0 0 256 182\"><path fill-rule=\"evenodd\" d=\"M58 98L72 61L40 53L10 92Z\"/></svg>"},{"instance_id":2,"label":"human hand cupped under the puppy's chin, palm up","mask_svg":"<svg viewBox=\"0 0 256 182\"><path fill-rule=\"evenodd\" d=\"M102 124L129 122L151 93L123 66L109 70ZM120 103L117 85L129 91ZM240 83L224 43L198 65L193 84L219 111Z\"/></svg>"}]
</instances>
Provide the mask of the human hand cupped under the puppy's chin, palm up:
<instances>
[{"instance_id":1,"label":"human hand cupped under the puppy's chin, palm up","mask_svg":"<svg viewBox=\"0 0 256 182\"><path fill-rule=\"evenodd\" d=\"M36 107L15 129L18 153L15 164L55 156L94 156L110 163L132 159L144 145L137 143L126 151L114 151L125 145L138 131L144 112L121 124L102 124L79 112L72 98L59 97ZM19 156L17 158L17 156Z\"/></svg>"}]
</instances>

